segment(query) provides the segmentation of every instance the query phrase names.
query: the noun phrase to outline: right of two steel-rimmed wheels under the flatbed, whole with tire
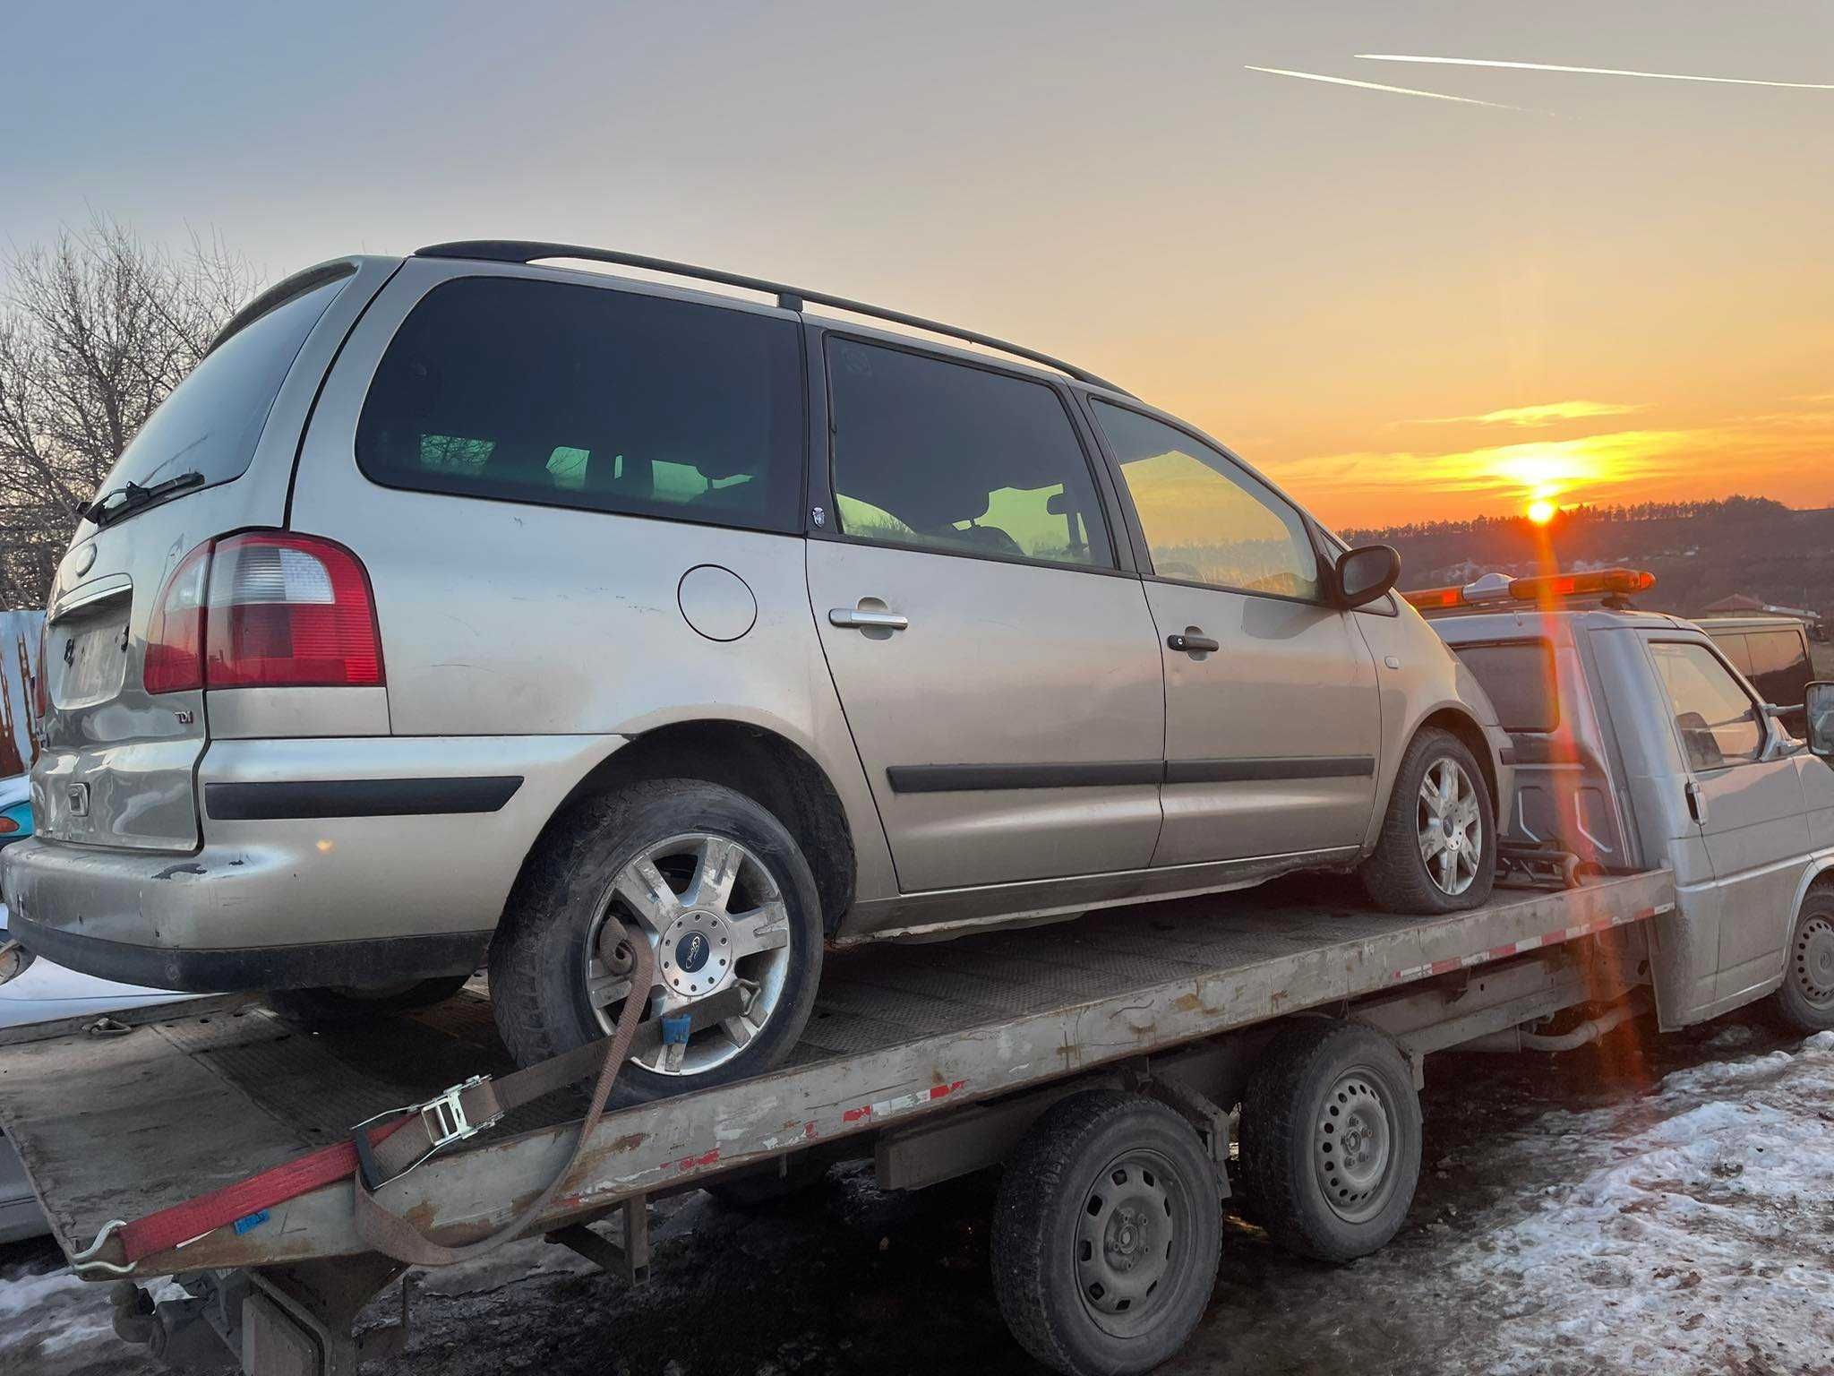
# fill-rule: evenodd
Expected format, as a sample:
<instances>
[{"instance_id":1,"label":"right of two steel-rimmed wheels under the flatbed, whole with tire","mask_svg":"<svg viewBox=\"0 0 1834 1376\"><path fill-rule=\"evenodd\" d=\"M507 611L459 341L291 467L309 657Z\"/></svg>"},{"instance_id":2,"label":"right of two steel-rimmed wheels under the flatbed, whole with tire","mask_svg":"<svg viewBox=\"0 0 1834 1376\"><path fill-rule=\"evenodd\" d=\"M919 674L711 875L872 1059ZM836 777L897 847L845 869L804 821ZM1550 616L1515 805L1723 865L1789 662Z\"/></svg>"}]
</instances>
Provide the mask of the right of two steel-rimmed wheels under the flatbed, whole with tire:
<instances>
[{"instance_id":1,"label":"right of two steel-rimmed wheels under the flatbed, whole with tire","mask_svg":"<svg viewBox=\"0 0 1834 1376\"><path fill-rule=\"evenodd\" d=\"M1342 1171L1353 1141L1355 1176ZM1353 1022L1295 1024L1242 1099L1243 1183L1275 1242L1346 1262L1385 1246L1420 1183L1420 1097L1407 1060Z\"/></svg>"}]
</instances>

